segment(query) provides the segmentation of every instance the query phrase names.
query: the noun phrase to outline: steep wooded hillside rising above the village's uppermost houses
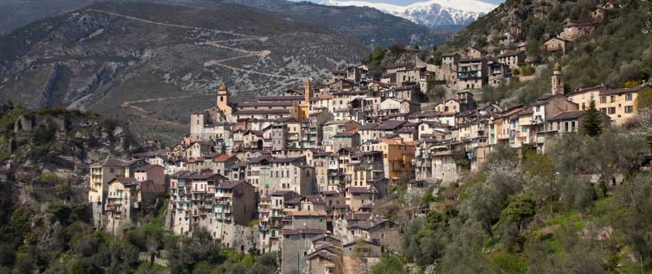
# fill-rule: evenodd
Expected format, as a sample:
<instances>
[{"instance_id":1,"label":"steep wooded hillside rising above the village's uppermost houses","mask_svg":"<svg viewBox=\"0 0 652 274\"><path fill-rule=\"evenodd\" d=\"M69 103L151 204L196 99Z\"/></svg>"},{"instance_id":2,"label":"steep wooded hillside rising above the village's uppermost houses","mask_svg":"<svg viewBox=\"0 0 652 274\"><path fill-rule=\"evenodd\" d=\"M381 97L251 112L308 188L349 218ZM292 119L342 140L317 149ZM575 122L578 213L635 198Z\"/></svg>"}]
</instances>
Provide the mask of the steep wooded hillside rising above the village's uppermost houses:
<instances>
[{"instance_id":1,"label":"steep wooded hillside rising above the village's uppermost houses","mask_svg":"<svg viewBox=\"0 0 652 274\"><path fill-rule=\"evenodd\" d=\"M605 82L614 88L624 87L626 82L642 83L648 80L652 67L652 50L648 45L652 36L643 34L641 27L647 14L632 8L607 10L604 21L591 38L579 39L568 55L542 51L546 40L561 31L567 22L586 23L594 21L590 14L601 1L507 1L493 12L471 23L434 53L441 56L450 51L464 52L468 47L489 49L494 55L503 48L498 36L509 34L514 38L508 49L515 44L526 43L526 55L535 65L544 69L536 79L511 82L509 86L485 88L484 101L533 103L550 91L550 75L555 62L560 62L565 75L566 92L576 88L597 86Z\"/></svg>"}]
</instances>

